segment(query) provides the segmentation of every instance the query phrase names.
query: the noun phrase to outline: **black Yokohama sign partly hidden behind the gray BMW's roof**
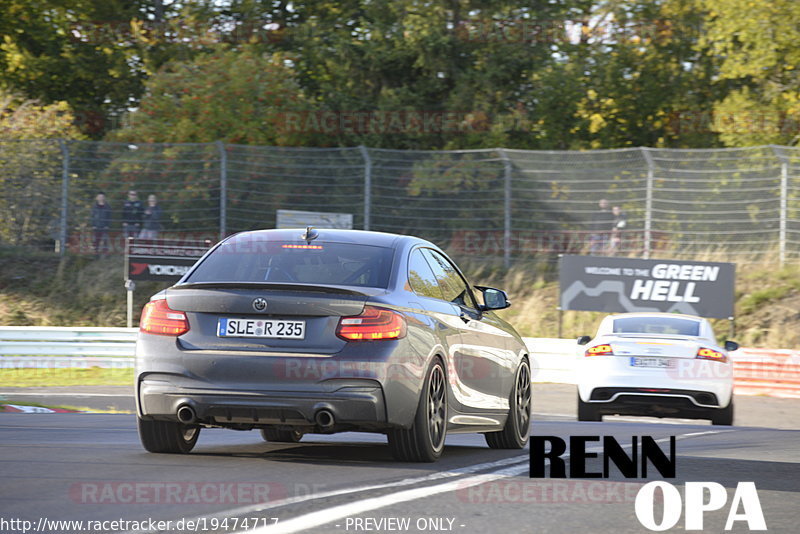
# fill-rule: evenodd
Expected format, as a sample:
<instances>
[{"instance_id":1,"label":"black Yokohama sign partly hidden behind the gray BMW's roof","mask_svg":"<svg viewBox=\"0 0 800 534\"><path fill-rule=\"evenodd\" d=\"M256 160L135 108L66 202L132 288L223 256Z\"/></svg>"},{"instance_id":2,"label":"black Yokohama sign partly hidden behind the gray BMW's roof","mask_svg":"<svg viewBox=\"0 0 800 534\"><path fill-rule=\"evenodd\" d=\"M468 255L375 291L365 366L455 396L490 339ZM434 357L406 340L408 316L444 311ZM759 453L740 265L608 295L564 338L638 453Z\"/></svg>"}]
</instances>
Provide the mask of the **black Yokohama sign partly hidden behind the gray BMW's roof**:
<instances>
[{"instance_id":1,"label":"black Yokohama sign partly hidden behind the gray BMW's roof","mask_svg":"<svg viewBox=\"0 0 800 534\"><path fill-rule=\"evenodd\" d=\"M211 241L131 239L125 279L177 282L210 246Z\"/></svg>"}]
</instances>

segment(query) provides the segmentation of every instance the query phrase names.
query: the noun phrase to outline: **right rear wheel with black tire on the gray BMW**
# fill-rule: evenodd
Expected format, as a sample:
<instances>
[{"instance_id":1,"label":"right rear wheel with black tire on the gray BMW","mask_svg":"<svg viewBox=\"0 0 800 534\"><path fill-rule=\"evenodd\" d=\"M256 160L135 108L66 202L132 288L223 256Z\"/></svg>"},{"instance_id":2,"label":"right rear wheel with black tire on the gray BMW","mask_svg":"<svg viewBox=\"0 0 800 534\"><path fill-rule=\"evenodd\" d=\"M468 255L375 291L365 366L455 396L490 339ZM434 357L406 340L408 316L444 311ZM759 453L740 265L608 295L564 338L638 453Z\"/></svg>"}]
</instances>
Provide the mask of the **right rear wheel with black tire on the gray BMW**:
<instances>
[{"instance_id":1,"label":"right rear wheel with black tire on the gray BMW","mask_svg":"<svg viewBox=\"0 0 800 534\"><path fill-rule=\"evenodd\" d=\"M425 376L414 423L409 429L387 434L392 456L401 462L435 462L442 455L447 437L447 375L438 358Z\"/></svg>"}]
</instances>

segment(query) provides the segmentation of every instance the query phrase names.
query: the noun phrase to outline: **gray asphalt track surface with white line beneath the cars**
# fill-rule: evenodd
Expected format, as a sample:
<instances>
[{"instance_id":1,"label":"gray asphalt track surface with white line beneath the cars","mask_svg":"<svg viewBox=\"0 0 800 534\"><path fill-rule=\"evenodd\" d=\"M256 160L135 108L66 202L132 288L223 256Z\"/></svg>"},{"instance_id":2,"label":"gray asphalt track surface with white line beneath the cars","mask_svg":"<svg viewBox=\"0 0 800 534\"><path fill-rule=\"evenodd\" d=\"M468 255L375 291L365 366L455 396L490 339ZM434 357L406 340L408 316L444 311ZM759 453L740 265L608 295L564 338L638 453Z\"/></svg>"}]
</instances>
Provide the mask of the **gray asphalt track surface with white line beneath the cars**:
<instances>
[{"instance_id":1,"label":"gray asphalt track surface with white line beneath the cars","mask_svg":"<svg viewBox=\"0 0 800 534\"><path fill-rule=\"evenodd\" d=\"M728 490L727 505L705 515L703 531L723 531L737 483L752 481L768 531L798 532L800 410L794 419L781 416L797 401L737 398L746 407L739 424L747 426L728 428L635 418L579 423L566 402L569 388L538 386L533 434L613 435L623 444L633 435L676 436L677 477L670 482L681 493L685 481ZM763 414L753 408L759 401ZM599 460L591 462L590 470L600 470ZM0 414L0 476L2 532L22 532L12 519L31 521L39 532L78 531L53 520L120 519L171 521L161 526L173 532L256 532L256 524L258 532L649 532L633 502L646 480L613 470L608 480L529 479L527 450L490 450L479 435L448 437L435 464L397 463L382 435L359 433L271 444L257 432L206 429L181 456L146 453L129 414L8 413ZM682 518L670 531L683 525ZM143 525L103 526L109 528L84 531ZM747 525L739 521L732 531L748 532Z\"/></svg>"}]
</instances>

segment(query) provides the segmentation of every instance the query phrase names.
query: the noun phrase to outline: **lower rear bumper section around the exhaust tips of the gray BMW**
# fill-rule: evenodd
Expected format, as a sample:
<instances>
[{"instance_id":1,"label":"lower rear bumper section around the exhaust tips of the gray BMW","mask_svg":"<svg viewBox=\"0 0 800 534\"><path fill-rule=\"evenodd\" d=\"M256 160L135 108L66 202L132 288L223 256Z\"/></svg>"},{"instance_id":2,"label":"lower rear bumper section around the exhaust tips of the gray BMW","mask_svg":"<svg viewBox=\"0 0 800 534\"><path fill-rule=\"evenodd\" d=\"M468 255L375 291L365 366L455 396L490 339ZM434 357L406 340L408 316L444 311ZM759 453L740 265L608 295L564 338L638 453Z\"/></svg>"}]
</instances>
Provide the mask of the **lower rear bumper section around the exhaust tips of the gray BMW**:
<instances>
[{"instance_id":1,"label":"lower rear bumper section around the exhaust tips of the gray BMW","mask_svg":"<svg viewBox=\"0 0 800 534\"><path fill-rule=\"evenodd\" d=\"M212 426L285 425L307 431L380 430L388 426L383 390L371 380L337 381L326 388L330 391L242 392L183 387L163 377L155 378L145 378L137 385L137 408L142 418L177 421L178 410L188 406L195 422ZM327 428L316 420L323 410L333 415L334 424Z\"/></svg>"}]
</instances>

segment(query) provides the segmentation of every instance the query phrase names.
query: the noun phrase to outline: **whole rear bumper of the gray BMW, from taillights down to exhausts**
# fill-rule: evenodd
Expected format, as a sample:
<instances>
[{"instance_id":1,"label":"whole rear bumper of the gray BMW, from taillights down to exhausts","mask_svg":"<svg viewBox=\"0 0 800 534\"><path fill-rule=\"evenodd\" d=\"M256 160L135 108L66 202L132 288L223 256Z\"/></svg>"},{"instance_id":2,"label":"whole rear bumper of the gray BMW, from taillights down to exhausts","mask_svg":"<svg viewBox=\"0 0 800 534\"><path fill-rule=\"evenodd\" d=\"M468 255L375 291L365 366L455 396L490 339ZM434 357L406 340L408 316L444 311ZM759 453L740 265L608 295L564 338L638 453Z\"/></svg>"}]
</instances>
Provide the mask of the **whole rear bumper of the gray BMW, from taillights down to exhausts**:
<instances>
[{"instance_id":1,"label":"whole rear bumper of the gray BMW, from taillights down to exhausts","mask_svg":"<svg viewBox=\"0 0 800 534\"><path fill-rule=\"evenodd\" d=\"M406 338L325 355L185 350L173 337L140 333L137 407L141 417L176 420L188 404L219 426L313 425L327 409L335 430L408 428L426 365Z\"/></svg>"}]
</instances>

